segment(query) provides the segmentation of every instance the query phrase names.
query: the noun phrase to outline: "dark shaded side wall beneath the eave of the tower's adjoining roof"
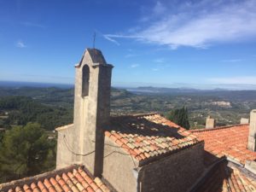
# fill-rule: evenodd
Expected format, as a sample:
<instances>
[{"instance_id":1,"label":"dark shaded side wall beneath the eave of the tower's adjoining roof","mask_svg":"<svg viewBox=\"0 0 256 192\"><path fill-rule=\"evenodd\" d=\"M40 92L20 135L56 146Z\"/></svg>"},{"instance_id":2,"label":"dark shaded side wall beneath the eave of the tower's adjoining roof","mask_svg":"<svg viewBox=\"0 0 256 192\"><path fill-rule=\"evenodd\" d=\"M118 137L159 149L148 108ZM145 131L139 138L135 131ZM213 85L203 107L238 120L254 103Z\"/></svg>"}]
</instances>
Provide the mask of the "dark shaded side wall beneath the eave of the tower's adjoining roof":
<instances>
[{"instance_id":1,"label":"dark shaded side wall beneath the eave of the tower's adjoining roof","mask_svg":"<svg viewBox=\"0 0 256 192\"><path fill-rule=\"evenodd\" d=\"M204 171L203 148L204 144L199 143L143 166L140 171L141 191L187 191Z\"/></svg>"}]
</instances>

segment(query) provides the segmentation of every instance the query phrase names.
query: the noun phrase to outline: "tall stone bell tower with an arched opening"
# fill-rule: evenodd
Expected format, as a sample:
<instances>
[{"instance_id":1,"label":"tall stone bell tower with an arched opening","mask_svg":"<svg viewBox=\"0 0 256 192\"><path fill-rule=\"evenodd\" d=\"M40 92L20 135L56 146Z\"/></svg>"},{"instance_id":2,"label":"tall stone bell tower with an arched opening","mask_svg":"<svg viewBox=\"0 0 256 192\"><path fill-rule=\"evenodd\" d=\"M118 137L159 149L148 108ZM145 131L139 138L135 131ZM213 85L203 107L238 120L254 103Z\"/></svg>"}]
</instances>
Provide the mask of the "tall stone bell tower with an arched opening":
<instances>
[{"instance_id":1,"label":"tall stone bell tower with an arched opening","mask_svg":"<svg viewBox=\"0 0 256 192\"><path fill-rule=\"evenodd\" d=\"M98 49L86 49L76 66L73 148L78 155L73 161L84 164L94 176L102 174L112 68Z\"/></svg>"}]
</instances>

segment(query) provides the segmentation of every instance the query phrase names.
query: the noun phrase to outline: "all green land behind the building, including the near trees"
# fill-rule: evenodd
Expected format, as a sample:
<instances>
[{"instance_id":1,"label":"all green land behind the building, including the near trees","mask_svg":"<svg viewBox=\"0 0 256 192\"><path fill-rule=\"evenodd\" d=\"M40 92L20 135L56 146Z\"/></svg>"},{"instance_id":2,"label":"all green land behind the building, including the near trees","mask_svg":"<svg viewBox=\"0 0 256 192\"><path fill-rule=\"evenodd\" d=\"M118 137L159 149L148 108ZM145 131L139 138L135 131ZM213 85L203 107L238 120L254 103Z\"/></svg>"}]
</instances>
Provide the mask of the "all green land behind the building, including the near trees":
<instances>
[{"instance_id":1,"label":"all green land behind the building, including the near trees","mask_svg":"<svg viewBox=\"0 0 256 192\"><path fill-rule=\"evenodd\" d=\"M153 90L113 88L111 113L158 112L195 129L204 127L207 115L217 125L232 125L256 108L254 90ZM0 183L54 169L54 130L72 122L73 88L0 87Z\"/></svg>"}]
</instances>

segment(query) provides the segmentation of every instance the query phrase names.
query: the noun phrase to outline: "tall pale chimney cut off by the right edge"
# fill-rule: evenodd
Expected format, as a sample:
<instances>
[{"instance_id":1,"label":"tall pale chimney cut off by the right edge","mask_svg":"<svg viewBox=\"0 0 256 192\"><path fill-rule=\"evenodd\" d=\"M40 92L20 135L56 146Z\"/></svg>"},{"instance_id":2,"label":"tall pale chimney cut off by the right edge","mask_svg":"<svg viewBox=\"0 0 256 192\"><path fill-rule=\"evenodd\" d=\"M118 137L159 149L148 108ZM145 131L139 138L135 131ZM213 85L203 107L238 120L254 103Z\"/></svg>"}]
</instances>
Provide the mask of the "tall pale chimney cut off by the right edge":
<instances>
[{"instance_id":1,"label":"tall pale chimney cut off by the right edge","mask_svg":"<svg viewBox=\"0 0 256 192\"><path fill-rule=\"evenodd\" d=\"M255 137L256 137L256 109L253 109L250 113L250 125L249 125L249 137L248 137L248 149L255 151Z\"/></svg>"}]
</instances>

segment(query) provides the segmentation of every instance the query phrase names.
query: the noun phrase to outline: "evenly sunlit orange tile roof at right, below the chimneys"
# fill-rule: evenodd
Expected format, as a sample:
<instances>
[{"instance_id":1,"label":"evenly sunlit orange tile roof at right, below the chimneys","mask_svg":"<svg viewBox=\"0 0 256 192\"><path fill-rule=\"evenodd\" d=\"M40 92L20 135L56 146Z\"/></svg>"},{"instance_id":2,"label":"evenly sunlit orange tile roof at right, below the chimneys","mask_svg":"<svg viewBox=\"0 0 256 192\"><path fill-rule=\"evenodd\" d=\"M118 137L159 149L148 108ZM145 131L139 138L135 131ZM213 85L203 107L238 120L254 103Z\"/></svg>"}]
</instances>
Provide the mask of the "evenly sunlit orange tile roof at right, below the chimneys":
<instances>
[{"instance_id":1,"label":"evenly sunlit orange tile roof at right, below the chimneys","mask_svg":"<svg viewBox=\"0 0 256 192\"><path fill-rule=\"evenodd\" d=\"M248 125L232 125L191 131L205 141L205 150L217 157L227 156L241 164L256 160L256 153L247 149Z\"/></svg>"}]
</instances>

